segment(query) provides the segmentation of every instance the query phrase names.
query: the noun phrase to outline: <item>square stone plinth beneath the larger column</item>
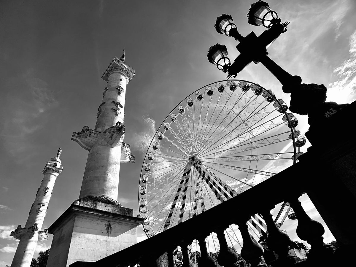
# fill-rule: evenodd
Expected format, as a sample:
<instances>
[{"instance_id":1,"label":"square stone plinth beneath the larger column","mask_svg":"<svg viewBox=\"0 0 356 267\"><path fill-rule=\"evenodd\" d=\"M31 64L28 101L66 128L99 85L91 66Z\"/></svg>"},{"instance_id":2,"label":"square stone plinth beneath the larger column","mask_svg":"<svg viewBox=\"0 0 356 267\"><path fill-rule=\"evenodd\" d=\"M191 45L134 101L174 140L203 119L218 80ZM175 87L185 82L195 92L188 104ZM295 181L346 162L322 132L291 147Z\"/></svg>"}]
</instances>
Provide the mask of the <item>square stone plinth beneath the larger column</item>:
<instances>
[{"instance_id":1,"label":"square stone plinth beneath the larger column","mask_svg":"<svg viewBox=\"0 0 356 267\"><path fill-rule=\"evenodd\" d=\"M129 208L89 199L74 201L48 228L54 237L47 267L97 261L136 244L136 226L143 220L132 215Z\"/></svg>"}]
</instances>

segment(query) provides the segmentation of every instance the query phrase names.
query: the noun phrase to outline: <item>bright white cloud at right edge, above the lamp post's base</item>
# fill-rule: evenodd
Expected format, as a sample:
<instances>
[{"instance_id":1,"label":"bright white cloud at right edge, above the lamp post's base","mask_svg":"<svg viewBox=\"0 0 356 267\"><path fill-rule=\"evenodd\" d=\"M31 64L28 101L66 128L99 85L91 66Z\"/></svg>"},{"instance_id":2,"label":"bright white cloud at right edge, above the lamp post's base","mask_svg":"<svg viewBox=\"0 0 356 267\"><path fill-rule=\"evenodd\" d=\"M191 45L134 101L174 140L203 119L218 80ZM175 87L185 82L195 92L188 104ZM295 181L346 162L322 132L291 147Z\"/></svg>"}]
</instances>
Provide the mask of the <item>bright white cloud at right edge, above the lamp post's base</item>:
<instances>
[{"instance_id":1,"label":"bright white cloud at right edge, above the lamp post's base","mask_svg":"<svg viewBox=\"0 0 356 267\"><path fill-rule=\"evenodd\" d=\"M334 69L338 80L329 84L328 99L337 103L351 102L356 90L356 31L350 36L349 59Z\"/></svg>"}]
</instances>

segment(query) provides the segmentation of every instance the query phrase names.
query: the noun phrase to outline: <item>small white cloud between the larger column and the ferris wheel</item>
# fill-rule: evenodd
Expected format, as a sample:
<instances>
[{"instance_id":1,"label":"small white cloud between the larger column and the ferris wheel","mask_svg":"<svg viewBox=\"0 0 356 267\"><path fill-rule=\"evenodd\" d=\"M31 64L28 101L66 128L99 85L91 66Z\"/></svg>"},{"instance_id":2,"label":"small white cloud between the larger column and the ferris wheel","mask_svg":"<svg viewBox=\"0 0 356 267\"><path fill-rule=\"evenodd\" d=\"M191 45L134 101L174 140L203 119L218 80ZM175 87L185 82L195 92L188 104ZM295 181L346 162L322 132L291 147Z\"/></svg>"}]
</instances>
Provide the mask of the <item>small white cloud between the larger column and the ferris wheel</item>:
<instances>
[{"instance_id":1,"label":"small white cloud between the larger column and the ferris wheel","mask_svg":"<svg viewBox=\"0 0 356 267\"><path fill-rule=\"evenodd\" d=\"M131 141L131 147L134 147L134 150L139 150L142 153L146 153L146 150L150 145L153 136L156 133L156 122L152 118L148 117L148 114L142 116L142 119L142 131L133 134L133 141Z\"/></svg>"}]
</instances>

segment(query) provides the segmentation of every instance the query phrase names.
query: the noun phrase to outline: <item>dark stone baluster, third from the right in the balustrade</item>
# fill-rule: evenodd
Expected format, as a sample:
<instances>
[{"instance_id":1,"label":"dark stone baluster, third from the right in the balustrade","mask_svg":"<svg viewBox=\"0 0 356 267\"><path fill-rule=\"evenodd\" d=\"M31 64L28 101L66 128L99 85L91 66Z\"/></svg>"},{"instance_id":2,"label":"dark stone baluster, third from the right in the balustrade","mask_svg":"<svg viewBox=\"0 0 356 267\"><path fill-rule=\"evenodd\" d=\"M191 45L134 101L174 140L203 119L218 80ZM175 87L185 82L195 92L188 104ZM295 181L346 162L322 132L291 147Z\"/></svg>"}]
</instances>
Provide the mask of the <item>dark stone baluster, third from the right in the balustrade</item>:
<instances>
[{"instance_id":1,"label":"dark stone baluster, third from the right in the balustrade","mask_svg":"<svg viewBox=\"0 0 356 267\"><path fill-rule=\"evenodd\" d=\"M246 221L244 223L237 223L241 232L244 245L241 249L241 257L247 260L251 267L254 266L266 266L261 263L261 257L263 255L263 247L250 235L247 229Z\"/></svg>"}]
</instances>

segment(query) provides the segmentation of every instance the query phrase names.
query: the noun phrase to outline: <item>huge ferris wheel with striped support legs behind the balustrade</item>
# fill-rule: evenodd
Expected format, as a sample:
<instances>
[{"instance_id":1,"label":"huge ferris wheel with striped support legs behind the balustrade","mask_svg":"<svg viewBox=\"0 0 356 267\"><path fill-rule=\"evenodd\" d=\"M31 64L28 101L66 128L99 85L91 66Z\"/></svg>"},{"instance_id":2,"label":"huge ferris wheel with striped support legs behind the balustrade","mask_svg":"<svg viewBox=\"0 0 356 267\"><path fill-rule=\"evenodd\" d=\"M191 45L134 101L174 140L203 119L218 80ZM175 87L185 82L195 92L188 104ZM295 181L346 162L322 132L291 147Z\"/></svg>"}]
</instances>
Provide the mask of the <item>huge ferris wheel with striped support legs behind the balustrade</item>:
<instances>
[{"instance_id":1,"label":"huge ferris wheel with striped support legs behind the balustrade","mask_svg":"<svg viewBox=\"0 0 356 267\"><path fill-rule=\"evenodd\" d=\"M184 98L159 126L142 164L138 216L145 218L146 235L182 223L294 164L306 140L287 110L271 90L244 80L215 82ZM248 225L257 237L266 235L258 215ZM236 229L225 231L232 247L240 245ZM213 252L219 249L215 233L208 245ZM196 249L196 242L192 246Z\"/></svg>"}]
</instances>

